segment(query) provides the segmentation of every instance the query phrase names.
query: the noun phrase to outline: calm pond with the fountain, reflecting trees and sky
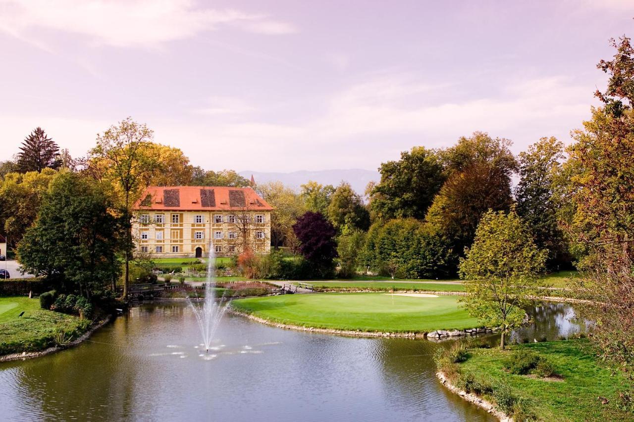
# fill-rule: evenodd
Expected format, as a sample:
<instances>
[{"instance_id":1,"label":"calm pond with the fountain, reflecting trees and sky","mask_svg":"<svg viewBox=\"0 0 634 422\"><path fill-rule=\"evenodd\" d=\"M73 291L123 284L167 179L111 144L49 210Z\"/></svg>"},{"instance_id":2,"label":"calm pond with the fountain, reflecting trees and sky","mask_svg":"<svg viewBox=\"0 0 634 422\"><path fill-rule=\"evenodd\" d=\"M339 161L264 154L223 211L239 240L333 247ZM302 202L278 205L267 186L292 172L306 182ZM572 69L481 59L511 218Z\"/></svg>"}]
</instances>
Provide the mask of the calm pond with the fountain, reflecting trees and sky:
<instances>
[{"instance_id":1,"label":"calm pond with the fountain, reflecting trees and sky","mask_svg":"<svg viewBox=\"0 0 634 422\"><path fill-rule=\"evenodd\" d=\"M565 304L534 315L512 338L553 340L585 327ZM78 347L0 364L0 419L495 420L437 381L433 354L451 342L305 333L229 314L216 338L200 352L182 302L134 307Z\"/></svg>"}]
</instances>

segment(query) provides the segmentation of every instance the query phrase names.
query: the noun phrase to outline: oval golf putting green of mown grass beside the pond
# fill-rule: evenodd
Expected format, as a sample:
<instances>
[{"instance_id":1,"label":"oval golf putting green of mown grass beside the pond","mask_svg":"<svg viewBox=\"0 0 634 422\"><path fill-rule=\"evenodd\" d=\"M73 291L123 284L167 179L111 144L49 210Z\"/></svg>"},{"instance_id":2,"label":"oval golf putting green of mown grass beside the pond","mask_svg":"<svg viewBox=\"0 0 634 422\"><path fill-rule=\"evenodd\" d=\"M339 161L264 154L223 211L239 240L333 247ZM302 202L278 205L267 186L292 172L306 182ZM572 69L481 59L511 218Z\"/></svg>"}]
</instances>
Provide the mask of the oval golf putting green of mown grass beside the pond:
<instances>
[{"instance_id":1,"label":"oval golf putting green of mown grass beside the pond","mask_svg":"<svg viewBox=\"0 0 634 422\"><path fill-rule=\"evenodd\" d=\"M457 298L385 293L314 293L234 300L233 307L284 324L361 331L425 332L480 324ZM393 302L392 302L393 301Z\"/></svg>"}]
</instances>

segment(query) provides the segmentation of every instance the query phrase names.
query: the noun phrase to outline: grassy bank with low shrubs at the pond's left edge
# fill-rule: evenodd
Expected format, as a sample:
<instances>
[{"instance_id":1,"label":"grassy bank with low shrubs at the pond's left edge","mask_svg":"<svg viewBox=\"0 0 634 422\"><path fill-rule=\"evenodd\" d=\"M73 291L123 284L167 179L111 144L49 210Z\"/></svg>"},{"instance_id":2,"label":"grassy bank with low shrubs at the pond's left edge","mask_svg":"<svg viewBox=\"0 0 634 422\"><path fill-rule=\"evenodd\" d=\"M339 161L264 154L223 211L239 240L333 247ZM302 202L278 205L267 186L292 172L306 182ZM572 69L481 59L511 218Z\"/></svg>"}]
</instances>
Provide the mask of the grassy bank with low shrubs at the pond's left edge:
<instances>
[{"instance_id":1,"label":"grassy bank with low shrubs at the pond's left edge","mask_svg":"<svg viewBox=\"0 0 634 422\"><path fill-rule=\"evenodd\" d=\"M88 326L85 319L41 309L37 299L0 297L0 355L63 345Z\"/></svg>"}]
</instances>

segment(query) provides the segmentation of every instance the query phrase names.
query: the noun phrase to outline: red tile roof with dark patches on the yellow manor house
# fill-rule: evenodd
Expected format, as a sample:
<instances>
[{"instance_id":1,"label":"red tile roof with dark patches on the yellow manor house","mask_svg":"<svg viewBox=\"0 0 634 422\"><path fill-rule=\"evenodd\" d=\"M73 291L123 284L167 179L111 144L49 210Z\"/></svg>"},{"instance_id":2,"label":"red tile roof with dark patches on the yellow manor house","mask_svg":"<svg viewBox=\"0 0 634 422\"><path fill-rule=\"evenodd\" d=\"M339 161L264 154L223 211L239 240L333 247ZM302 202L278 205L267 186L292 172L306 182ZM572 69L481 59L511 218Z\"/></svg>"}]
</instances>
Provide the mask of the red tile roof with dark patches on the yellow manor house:
<instances>
[{"instance_id":1,"label":"red tile roof with dark patches on the yellow manor house","mask_svg":"<svg viewBox=\"0 0 634 422\"><path fill-rule=\"evenodd\" d=\"M273 207L251 188L227 186L150 186L135 210L254 210L272 211Z\"/></svg>"}]
</instances>

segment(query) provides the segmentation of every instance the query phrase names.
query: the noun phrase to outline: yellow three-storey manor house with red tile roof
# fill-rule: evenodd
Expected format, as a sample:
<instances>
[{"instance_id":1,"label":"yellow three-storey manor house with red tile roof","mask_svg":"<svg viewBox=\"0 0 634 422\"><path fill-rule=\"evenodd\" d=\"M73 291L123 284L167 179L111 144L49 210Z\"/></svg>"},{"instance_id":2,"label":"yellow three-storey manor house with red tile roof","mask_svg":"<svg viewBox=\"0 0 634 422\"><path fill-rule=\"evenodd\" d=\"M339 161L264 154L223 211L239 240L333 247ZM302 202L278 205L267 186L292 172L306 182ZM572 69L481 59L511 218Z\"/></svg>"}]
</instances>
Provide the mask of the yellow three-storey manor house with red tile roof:
<instances>
[{"instance_id":1,"label":"yellow three-storey manor house with red tile roof","mask_svg":"<svg viewBox=\"0 0 634 422\"><path fill-rule=\"evenodd\" d=\"M252 188L150 186L134 204L137 253L156 258L271 252L273 207Z\"/></svg>"}]
</instances>

